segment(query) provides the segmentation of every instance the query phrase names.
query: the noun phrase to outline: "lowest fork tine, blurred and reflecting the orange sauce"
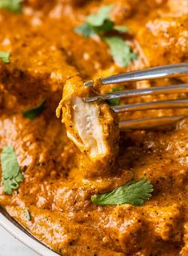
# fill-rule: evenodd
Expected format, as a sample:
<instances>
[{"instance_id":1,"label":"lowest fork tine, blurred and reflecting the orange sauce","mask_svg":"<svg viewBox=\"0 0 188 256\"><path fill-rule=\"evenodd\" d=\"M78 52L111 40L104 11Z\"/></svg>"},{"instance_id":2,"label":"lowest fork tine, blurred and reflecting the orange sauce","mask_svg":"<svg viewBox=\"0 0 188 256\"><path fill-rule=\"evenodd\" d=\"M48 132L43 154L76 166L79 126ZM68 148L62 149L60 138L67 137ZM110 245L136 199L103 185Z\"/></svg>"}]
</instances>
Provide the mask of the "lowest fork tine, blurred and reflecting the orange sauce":
<instances>
[{"instance_id":1,"label":"lowest fork tine, blurred and reflecting the orange sauce","mask_svg":"<svg viewBox=\"0 0 188 256\"><path fill-rule=\"evenodd\" d=\"M187 115L177 115L168 117L157 117L157 118L141 118L127 121L120 121L119 128L123 130L142 130L150 129L158 126L171 125L175 122L186 118Z\"/></svg>"}]
</instances>

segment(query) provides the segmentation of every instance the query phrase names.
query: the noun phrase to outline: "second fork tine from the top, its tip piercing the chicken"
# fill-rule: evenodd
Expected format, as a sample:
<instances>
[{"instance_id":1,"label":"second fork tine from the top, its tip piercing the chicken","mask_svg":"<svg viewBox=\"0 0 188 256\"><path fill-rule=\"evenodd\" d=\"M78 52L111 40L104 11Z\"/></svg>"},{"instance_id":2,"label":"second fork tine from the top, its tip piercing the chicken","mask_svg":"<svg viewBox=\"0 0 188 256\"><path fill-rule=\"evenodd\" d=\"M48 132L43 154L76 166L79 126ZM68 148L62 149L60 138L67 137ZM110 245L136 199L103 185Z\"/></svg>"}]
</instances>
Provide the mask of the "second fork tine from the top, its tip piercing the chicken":
<instances>
[{"instance_id":1,"label":"second fork tine from the top, its tip piercing the chicken","mask_svg":"<svg viewBox=\"0 0 188 256\"><path fill-rule=\"evenodd\" d=\"M112 98L129 98L135 96L143 95L154 95L154 94L178 94L186 93L188 91L188 83L174 85L174 86L159 86L151 87L145 89L135 89L135 90L120 90L112 92L110 94L100 94L91 98L83 98L84 102L95 102L96 100L110 100Z\"/></svg>"}]
</instances>

